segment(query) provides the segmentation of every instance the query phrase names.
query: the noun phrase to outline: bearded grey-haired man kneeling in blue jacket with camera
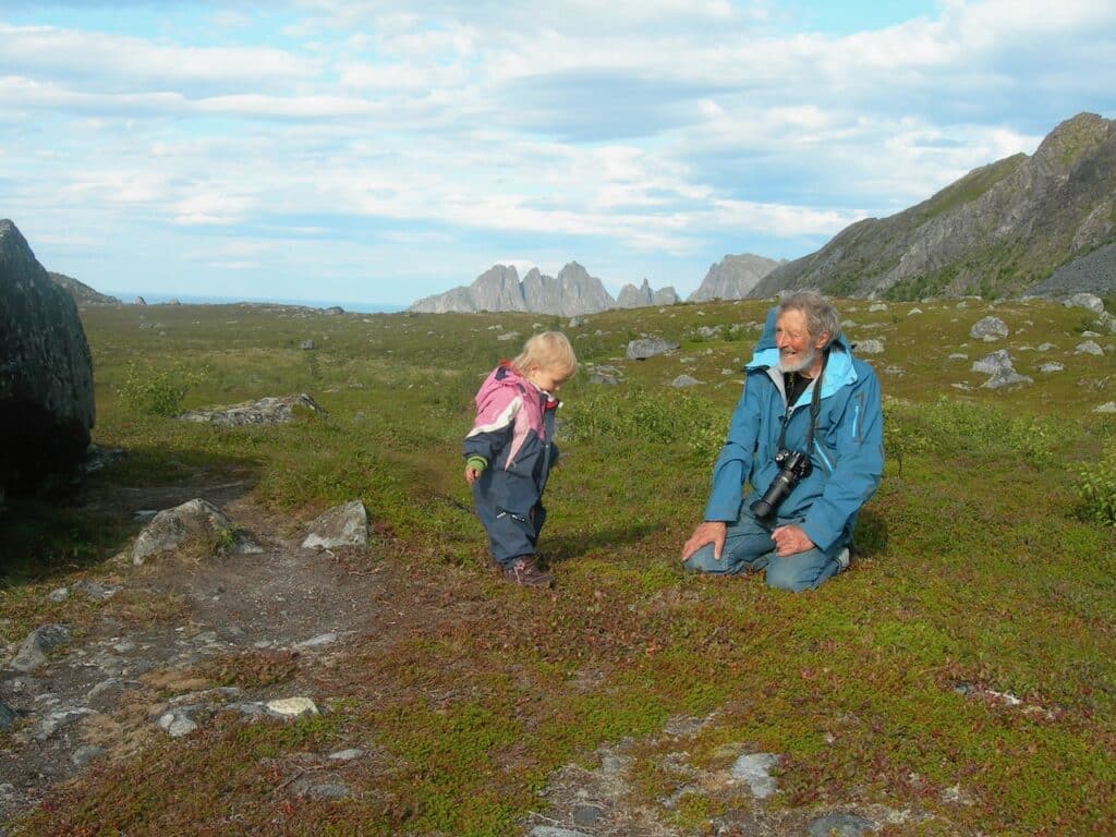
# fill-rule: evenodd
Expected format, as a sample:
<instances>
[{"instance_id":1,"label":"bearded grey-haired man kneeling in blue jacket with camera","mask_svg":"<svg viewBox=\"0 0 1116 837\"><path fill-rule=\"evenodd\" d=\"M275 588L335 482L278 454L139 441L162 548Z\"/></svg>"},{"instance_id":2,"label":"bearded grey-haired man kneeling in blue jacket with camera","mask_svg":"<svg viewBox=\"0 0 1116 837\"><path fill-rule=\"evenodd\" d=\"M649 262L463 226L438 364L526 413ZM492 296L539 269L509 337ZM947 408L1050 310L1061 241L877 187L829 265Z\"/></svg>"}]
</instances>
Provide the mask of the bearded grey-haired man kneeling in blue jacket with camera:
<instances>
[{"instance_id":1,"label":"bearded grey-haired man kneeling in blue jacket with camera","mask_svg":"<svg viewBox=\"0 0 1116 837\"><path fill-rule=\"evenodd\" d=\"M771 587L815 589L848 566L857 512L883 475L879 382L812 291L768 314L744 371L705 520L682 560L723 575L766 568Z\"/></svg>"}]
</instances>

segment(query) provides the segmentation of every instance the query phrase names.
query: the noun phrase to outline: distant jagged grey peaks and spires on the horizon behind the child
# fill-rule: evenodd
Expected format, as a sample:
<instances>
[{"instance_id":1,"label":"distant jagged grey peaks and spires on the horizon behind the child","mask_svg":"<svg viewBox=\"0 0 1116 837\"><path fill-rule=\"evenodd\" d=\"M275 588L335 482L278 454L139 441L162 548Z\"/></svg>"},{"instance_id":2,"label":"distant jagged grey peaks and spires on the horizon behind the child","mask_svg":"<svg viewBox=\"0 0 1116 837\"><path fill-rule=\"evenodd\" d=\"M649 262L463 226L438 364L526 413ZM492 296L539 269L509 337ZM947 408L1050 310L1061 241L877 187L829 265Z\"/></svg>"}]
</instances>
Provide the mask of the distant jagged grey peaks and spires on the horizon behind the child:
<instances>
[{"instance_id":1,"label":"distant jagged grey peaks and spires on the horizon behind the child","mask_svg":"<svg viewBox=\"0 0 1116 837\"><path fill-rule=\"evenodd\" d=\"M522 281L519 280L516 268L494 264L477 277L469 287L462 286L445 294L424 297L408 310L420 314L532 311L573 317L608 308L636 307L632 302L644 296L650 301L641 305L665 305L667 299L677 300L673 288L663 288L656 294L651 290L646 280L644 286L646 295L644 289L628 286L631 290L622 292L624 304L617 305L600 280L589 276L576 261L564 267L557 277L546 276L538 268L532 268Z\"/></svg>"}]
</instances>

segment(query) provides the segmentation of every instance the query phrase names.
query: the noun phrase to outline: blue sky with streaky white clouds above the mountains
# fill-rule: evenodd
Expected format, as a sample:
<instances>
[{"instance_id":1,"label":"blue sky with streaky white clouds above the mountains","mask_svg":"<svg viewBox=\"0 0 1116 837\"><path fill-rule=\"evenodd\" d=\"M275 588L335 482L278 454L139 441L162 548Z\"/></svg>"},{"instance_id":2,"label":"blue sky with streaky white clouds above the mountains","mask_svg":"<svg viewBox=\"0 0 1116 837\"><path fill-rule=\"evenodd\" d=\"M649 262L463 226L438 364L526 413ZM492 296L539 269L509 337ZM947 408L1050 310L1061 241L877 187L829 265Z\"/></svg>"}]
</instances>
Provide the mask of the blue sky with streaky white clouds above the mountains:
<instances>
[{"instance_id":1,"label":"blue sky with streaky white clouds above the mountains","mask_svg":"<svg viewBox=\"0 0 1116 837\"><path fill-rule=\"evenodd\" d=\"M104 291L685 297L1116 117L1112 0L0 0L0 218Z\"/></svg>"}]
</instances>

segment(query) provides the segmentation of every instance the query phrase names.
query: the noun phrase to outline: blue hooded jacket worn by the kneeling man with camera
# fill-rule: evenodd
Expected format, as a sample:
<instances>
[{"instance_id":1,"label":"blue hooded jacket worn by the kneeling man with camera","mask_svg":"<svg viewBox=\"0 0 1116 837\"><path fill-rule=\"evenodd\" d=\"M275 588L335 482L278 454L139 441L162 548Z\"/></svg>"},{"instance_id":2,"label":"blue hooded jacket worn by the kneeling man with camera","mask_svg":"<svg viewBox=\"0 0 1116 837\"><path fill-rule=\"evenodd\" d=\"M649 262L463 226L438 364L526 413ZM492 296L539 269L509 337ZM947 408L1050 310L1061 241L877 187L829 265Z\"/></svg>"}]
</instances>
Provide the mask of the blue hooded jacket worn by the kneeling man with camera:
<instances>
[{"instance_id":1,"label":"blue hooded jacket worn by the kneeling man with camera","mask_svg":"<svg viewBox=\"0 0 1116 837\"><path fill-rule=\"evenodd\" d=\"M775 346L773 309L744 372L744 392L713 469L705 520L738 520L741 504L751 506L762 497L779 473L775 454L787 398ZM812 394L811 383L793 405L785 443L790 450L805 450ZM814 468L780 503L777 517L779 525L797 522L815 546L831 551L852 540L857 512L884 472L879 381L868 364L853 357L843 335L830 345L821 376L811 448ZM751 487L747 492L745 485Z\"/></svg>"}]
</instances>

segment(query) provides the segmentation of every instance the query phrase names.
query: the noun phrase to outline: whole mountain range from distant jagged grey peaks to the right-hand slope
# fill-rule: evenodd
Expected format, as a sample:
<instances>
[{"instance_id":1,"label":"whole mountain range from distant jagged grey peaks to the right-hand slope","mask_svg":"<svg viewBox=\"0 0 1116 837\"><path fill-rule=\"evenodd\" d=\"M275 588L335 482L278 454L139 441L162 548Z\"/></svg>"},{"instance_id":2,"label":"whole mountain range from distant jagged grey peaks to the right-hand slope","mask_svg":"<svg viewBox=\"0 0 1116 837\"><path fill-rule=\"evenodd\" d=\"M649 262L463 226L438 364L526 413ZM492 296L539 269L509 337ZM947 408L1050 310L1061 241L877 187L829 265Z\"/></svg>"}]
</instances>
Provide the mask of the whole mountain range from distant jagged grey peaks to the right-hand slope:
<instances>
[{"instance_id":1,"label":"whole mountain range from distant jagged grey peaks to the right-hand slope","mask_svg":"<svg viewBox=\"0 0 1116 837\"><path fill-rule=\"evenodd\" d=\"M1033 155L990 163L910 209L857 221L800 259L725 256L689 300L797 288L886 299L1116 290L1116 121L1078 114ZM644 280L614 300L577 262L556 278L532 270L521 283L514 268L498 264L468 288L426 297L411 310L573 315L676 299L673 288L656 294Z\"/></svg>"}]
</instances>

